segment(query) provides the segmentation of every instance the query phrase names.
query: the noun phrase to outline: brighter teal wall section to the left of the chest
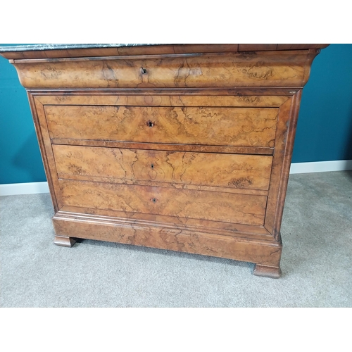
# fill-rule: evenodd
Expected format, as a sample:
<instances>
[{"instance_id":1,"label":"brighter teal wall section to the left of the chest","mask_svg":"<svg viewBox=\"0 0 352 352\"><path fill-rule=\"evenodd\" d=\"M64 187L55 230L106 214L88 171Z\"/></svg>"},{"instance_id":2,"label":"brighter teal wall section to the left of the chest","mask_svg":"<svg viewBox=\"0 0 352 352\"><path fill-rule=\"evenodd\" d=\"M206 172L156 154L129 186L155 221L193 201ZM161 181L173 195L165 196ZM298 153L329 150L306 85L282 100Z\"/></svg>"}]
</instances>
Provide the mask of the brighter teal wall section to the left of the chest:
<instances>
[{"instance_id":1,"label":"brighter teal wall section to the left of the chest","mask_svg":"<svg viewBox=\"0 0 352 352\"><path fill-rule=\"evenodd\" d=\"M0 184L42 181L46 177L27 93L13 65L0 56Z\"/></svg>"}]
</instances>

